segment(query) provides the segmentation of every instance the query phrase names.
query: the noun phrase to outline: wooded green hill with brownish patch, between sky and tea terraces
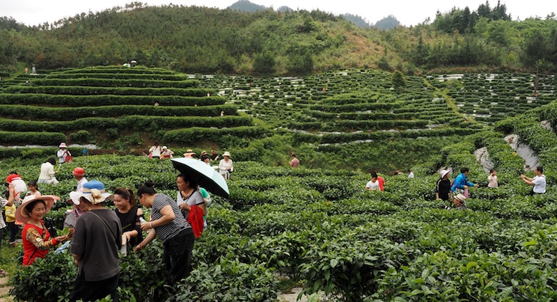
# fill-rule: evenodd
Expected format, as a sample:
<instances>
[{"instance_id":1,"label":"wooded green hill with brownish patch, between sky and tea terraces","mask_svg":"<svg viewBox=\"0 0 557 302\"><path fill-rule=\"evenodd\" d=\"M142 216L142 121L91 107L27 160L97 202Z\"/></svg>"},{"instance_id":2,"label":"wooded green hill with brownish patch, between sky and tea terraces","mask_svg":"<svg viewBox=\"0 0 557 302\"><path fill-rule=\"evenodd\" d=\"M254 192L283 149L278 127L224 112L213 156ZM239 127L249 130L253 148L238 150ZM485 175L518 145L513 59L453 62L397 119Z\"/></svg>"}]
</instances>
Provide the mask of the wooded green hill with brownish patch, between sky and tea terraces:
<instances>
[{"instance_id":1,"label":"wooded green hill with brownish patch, between sky and tea terraces","mask_svg":"<svg viewBox=\"0 0 557 302\"><path fill-rule=\"evenodd\" d=\"M549 13L549 12L548 12ZM181 72L309 74L379 67L407 74L556 72L557 21L505 7L455 8L433 22L360 29L321 11L242 13L141 3L27 27L0 18L0 71L122 64Z\"/></svg>"}]
</instances>

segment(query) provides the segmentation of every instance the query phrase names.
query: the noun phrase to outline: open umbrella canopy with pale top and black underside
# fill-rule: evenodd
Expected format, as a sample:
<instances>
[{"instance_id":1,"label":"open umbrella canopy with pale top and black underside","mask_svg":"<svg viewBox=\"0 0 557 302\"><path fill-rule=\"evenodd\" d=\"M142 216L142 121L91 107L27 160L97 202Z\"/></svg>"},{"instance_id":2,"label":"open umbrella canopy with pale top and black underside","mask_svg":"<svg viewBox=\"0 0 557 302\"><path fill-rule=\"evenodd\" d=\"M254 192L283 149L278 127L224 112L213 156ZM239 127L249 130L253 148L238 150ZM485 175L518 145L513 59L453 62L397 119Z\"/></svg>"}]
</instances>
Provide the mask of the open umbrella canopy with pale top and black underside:
<instances>
[{"instance_id":1,"label":"open umbrella canopy with pale top and black underside","mask_svg":"<svg viewBox=\"0 0 557 302\"><path fill-rule=\"evenodd\" d=\"M205 162L185 157L171 159L171 161L176 170L180 171L180 173L189 175L199 186L205 188L205 190L222 196L223 198L230 197L228 184L226 184L224 177L211 168L211 166L205 164Z\"/></svg>"}]
</instances>

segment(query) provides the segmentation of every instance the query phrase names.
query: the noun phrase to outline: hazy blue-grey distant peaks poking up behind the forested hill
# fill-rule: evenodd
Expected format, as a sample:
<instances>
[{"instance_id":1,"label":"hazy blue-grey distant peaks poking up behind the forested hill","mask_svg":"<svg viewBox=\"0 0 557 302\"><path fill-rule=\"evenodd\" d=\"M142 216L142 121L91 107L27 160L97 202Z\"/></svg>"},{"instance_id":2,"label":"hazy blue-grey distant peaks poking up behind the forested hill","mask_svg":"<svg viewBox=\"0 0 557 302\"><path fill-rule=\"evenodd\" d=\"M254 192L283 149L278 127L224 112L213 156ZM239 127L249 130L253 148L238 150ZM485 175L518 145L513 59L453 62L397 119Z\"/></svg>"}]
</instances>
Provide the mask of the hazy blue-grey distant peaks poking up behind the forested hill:
<instances>
[{"instance_id":1,"label":"hazy blue-grey distant peaks poking up behind the forested hill","mask_svg":"<svg viewBox=\"0 0 557 302\"><path fill-rule=\"evenodd\" d=\"M228 8L230 8L231 10L238 10L246 13L256 13L261 10L270 9L267 8L266 6L253 3L249 0L239 0L233 3L231 6L228 6ZM281 6L276 10L279 12L295 11L288 6ZM379 21L377 21L375 25L371 24L370 22L368 22L367 19L364 19L359 15L352 15L349 13L345 13L343 15L340 15L340 17L347 19L348 21L354 23L356 26L358 26L361 29L368 29L372 27L375 27L377 29L395 29L396 27L400 26L400 22L393 15L389 15L389 17L384 17L383 19L380 19Z\"/></svg>"}]
</instances>

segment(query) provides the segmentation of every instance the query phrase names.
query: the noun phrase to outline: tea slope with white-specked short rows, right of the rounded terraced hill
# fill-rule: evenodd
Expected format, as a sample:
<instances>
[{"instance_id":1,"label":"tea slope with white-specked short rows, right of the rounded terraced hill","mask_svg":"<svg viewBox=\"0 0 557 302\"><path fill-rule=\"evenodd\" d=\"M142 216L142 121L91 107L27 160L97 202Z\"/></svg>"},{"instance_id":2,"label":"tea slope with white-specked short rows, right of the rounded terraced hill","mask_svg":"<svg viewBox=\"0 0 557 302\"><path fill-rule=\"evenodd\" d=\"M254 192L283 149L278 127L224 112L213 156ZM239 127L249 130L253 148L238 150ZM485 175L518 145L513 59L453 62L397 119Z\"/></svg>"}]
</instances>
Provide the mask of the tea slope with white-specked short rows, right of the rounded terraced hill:
<instances>
[{"instance_id":1,"label":"tea slope with white-specked short rows, right of the rounded terraced hill","mask_svg":"<svg viewBox=\"0 0 557 302\"><path fill-rule=\"evenodd\" d=\"M196 76L240 111L295 132L299 141L358 143L384 138L469 134L447 100L421 77L395 90L387 72L348 70L308 77Z\"/></svg>"}]
</instances>

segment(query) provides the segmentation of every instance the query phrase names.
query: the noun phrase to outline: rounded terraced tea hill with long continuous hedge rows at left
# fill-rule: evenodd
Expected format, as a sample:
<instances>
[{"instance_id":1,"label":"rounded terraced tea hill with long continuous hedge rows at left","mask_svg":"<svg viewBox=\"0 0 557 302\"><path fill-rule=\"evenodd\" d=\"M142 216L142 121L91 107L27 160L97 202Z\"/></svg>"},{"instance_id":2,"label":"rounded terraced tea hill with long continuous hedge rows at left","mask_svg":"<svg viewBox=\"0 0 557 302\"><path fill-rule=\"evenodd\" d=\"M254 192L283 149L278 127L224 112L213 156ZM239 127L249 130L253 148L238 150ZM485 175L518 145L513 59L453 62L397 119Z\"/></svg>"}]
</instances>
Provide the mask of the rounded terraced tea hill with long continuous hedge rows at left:
<instances>
[{"instance_id":1,"label":"rounded terraced tea hill with long continuous hedge rows at left","mask_svg":"<svg viewBox=\"0 0 557 302\"><path fill-rule=\"evenodd\" d=\"M29 85L17 80L0 94L0 143L136 148L263 133L236 106L199 85L185 74L142 67L63 70Z\"/></svg>"}]
</instances>

